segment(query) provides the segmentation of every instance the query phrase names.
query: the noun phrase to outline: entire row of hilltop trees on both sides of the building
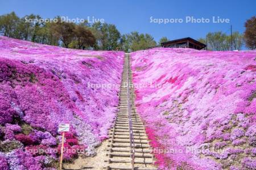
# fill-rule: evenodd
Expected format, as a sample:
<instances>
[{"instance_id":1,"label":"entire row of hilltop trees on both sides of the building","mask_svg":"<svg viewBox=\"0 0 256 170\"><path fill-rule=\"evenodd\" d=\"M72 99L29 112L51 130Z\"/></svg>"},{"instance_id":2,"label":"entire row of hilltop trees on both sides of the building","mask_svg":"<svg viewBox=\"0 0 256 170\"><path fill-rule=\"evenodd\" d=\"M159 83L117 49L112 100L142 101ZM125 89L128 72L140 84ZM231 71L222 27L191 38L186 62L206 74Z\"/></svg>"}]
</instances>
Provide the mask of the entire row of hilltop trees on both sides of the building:
<instances>
[{"instance_id":1,"label":"entire row of hilltop trees on both sides of the building","mask_svg":"<svg viewBox=\"0 0 256 170\"><path fill-rule=\"evenodd\" d=\"M0 16L0 35L15 39L38 42L41 44L63 46L74 49L124 50L132 52L161 45L169 41L162 37L157 43L148 33L137 31L121 35L114 24L108 23L71 23L64 22L60 16L56 22L41 22L40 15L26 15L19 18L15 12ZM33 20L34 22L27 22ZM207 44L208 50L241 50L243 45L249 49L256 48L255 16L245 23L245 33L234 32L230 35L209 32L200 42Z\"/></svg>"}]
</instances>

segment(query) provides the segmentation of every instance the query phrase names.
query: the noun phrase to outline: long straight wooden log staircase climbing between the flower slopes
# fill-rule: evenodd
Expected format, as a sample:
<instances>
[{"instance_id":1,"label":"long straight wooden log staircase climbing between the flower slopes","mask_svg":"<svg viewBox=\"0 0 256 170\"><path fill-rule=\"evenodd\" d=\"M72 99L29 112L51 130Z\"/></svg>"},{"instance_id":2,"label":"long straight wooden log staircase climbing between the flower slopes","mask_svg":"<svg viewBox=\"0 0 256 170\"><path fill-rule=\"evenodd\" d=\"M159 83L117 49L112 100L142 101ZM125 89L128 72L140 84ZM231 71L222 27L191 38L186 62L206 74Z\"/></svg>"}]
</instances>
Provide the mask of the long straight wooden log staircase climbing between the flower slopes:
<instances>
[{"instance_id":1,"label":"long straight wooden log staircase climbing between the flower slopes","mask_svg":"<svg viewBox=\"0 0 256 170\"><path fill-rule=\"evenodd\" d=\"M125 54L123 63L122 83L119 96L118 112L114 118L114 125L109 130L109 157L106 162L109 163L107 169L132 169L131 168L131 151L130 151L130 130L129 118L134 138L135 150L135 167L134 170L156 170L152 164L154 156L151 147L148 145L147 134L144 124L135 106L136 95L133 84L133 74L130 68L129 54ZM130 104L128 107L128 103ZM130 109L130 116L128 115ZM151 164L151 165L150 165Z\"/></svg>"}]
</instances>

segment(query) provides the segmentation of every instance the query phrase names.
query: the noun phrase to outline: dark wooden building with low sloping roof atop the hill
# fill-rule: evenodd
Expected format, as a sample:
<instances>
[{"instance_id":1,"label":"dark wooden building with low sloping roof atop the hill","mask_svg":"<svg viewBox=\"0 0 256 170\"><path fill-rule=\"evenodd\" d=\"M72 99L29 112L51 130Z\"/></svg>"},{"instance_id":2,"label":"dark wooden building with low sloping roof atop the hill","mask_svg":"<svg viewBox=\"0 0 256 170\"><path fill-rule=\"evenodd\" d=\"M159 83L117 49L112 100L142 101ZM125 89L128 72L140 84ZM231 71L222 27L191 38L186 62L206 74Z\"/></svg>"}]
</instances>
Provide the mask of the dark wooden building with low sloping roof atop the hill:
<instances>
[{"instance_id":1,"label":"dark wooden building with low sloping roof atop the hill","mask_svg":"<svg viewBox=\"0 0 256 170\"><path fill-rule=\"evenodd\" d=\"M207 46L202 42L192 39L191 37L162 42L161 45L164 48L193 48L197 50L204 49Z\"/></svg>"}]
</instances>

